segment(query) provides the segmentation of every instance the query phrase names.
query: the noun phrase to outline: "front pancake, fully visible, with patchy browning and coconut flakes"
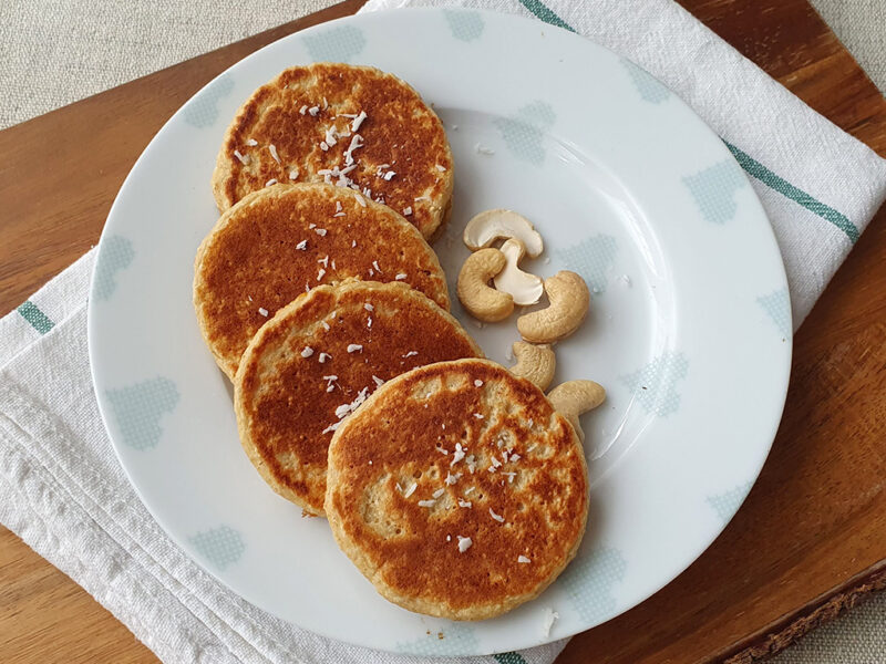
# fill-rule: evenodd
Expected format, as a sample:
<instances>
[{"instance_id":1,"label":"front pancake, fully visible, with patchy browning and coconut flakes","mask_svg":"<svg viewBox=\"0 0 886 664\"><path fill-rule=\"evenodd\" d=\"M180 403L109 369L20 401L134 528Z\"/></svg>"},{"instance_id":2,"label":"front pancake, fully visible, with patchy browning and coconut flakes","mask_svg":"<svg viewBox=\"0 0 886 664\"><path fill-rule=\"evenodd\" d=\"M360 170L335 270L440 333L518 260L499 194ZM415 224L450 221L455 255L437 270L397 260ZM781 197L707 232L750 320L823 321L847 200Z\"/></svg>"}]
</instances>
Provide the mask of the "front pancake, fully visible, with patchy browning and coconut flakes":
<instances>
[{"instance_id":1,"label":"front pancake, fully visible, with patchy browning and coconut flakes","mask_svg":"<svg viewBox=\"0 0 886 664\"><path fill-rule=\"evenodd\" d=\"M537 596L587 521L573 427L535 385L486 360L382 385L336 432L327 484L336 541L377 590L452 620Z\"/></svg>"}]
</instances>

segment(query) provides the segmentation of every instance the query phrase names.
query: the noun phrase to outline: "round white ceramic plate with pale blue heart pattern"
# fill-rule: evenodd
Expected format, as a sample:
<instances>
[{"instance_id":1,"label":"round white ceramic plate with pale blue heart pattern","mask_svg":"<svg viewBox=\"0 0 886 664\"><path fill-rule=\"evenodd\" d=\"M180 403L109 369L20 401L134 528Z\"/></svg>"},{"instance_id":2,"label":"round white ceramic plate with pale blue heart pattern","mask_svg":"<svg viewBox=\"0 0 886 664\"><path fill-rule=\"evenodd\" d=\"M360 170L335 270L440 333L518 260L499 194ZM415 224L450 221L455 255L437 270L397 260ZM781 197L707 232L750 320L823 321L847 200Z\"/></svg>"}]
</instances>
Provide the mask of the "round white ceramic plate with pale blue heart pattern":
<instances>
[{"instance_id":1,"label":"round white ceramic plate with pale blue heart pattern","mask_svg":"<svg viewBox=\"0 0 886 664\"><path fill-rule=\"evenodd\" d=\"M381 599L326 521L300 518L249 464L229 386L197 329L192 270L218 218L209 177L226 125L279 71L323 60L392 72L443 120L456 185L435 249L450 280L467 253L466 220L509 207L545 238L544 256L525 269L575 270L595 293L585 325L557 346L555 380L594 378L609 395L583 417L588 532L549 590L495 620L451 623ZM487 355L506 363L514 319L481 329L453 302ZM538 21L476 11L342 19L276 42L204 87L152 141L117 196L89 333L95 392L120 459L197 562L315 632L444 655L575 634L679 574L756 478L791 360L781 257L723 143L630 62ZM548 606L559 620L545 637Z\"/></svg>"}]
</instances>

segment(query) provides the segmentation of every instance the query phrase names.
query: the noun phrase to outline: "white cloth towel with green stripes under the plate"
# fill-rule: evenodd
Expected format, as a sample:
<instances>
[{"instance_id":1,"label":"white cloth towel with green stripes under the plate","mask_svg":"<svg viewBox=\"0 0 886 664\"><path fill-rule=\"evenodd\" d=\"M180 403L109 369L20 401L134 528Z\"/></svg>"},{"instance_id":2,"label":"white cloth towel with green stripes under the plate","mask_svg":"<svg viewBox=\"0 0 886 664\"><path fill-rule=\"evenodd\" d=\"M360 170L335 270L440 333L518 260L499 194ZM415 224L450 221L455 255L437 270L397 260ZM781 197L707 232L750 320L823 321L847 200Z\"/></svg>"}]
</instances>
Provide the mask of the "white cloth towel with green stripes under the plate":
<instances>
[{"instance_id":1,"label":"white cloth towel with green stripes under the plate","mask_svg":"<svg viewBox=\"0 0 886 664\"><path fill-rule=\"evenodd\" d=\"M364 10L418 3L370 0ZM785 260L794 321L802 321L880 206L886 163L671 0L466 4L586 34L689 102L751 175ZM0 319L0 521L164 662L421 661L284 623L227 590L164 535L126 480L95 404L86 352L93 261L91 251ZM547 664L564 644L456 662Z\"/></svg>"}]
</instances>

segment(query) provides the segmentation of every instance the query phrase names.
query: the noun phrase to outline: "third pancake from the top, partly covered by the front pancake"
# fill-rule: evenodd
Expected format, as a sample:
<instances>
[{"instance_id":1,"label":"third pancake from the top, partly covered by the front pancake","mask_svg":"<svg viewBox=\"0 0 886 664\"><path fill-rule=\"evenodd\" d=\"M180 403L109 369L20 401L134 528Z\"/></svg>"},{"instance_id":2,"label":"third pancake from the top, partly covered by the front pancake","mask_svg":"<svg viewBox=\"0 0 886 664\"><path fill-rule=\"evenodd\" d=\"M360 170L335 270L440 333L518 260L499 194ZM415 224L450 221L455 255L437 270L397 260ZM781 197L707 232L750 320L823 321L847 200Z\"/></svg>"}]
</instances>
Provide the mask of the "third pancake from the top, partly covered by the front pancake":
<instances>
[{"instance_id":1,"label":"third pancake from the top, partly covered by the front pancake","mask_svg":"<svg viewBox=\"0 0 886 664\"><path fill-rule=\"evenodd\" d=\"M478 355L452 315L408 286L321 286L278 311L244 353L234 382L240 442L278 494L321 515L342 418L382 381Z\"/></svg>"}]
</instances>

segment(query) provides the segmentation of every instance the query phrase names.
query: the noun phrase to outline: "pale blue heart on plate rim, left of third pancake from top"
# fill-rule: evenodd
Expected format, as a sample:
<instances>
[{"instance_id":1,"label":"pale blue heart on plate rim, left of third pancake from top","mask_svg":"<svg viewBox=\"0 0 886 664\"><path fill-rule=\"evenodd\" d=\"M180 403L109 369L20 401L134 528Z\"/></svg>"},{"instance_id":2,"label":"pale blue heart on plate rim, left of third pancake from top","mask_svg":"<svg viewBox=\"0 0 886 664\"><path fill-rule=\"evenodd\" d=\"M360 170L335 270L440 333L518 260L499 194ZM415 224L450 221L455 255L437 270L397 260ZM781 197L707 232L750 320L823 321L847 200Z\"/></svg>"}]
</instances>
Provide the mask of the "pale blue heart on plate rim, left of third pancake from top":
<instances>
[{"instance_id":1,"label":"pale blue heart on plate rim, left of third pancake from top","mask_svg":"<svg viewBox=\"0 0 886 664\"><path fill-rule=\"evenodd\" d=\"M161 419L178 405L178 390L169 378L142 381L109 390L107 403L120 427L120 437L135 449L152 449L163 436Z\"/></svg>"}]
</instances>

